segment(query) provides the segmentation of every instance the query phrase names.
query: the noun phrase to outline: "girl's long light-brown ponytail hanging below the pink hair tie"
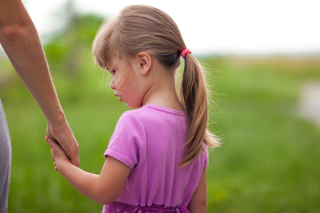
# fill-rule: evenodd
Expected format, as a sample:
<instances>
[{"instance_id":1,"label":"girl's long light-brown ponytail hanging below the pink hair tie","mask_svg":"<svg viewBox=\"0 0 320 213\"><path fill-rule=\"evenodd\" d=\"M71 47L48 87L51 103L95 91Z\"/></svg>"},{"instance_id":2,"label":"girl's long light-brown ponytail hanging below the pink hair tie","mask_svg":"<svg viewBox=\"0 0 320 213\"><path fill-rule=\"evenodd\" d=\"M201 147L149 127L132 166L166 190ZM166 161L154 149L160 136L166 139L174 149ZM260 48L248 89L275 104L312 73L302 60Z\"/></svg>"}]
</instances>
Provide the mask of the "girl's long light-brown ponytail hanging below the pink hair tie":
<instances>
[{"instance_id":1,"label":"girl's long light-brown ponytail hanging below the pink hair tie","mask_svg":"<svg viewBox=\"0 0 320 213\"><path fill-rule=\"evenodd\" d=\"M209 147L219 146L218 138L208 130L209 91L205 83L203 68L197 59L184 55L185 68L180 83L180 100L185 107L188 135L186 151L180 162L184 167L205 151L203 143Z\"/></svg>"}]
</instances>

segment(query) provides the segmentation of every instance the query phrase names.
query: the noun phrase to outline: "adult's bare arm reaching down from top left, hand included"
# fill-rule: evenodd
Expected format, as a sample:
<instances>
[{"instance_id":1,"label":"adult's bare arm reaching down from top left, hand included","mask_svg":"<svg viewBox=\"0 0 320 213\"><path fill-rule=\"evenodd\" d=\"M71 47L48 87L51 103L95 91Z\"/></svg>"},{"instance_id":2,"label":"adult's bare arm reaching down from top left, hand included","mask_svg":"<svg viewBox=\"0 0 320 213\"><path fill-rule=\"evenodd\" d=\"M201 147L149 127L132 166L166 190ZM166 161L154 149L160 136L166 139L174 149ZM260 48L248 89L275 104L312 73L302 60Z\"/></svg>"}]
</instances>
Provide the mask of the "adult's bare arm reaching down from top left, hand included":
<instances>
[{"instance_id":1,"label":"adult's bare arm reaching down from top left, hand included","mask_svg":"<svg viewBox=\"0 0 320 213\"><path fill-rule=\"evenodd\" d=\"M47 135L79 166L78 144L67 124L44 51L21 0L0 0L0 43L47 120Z\"/></svg>"}]
</instances>

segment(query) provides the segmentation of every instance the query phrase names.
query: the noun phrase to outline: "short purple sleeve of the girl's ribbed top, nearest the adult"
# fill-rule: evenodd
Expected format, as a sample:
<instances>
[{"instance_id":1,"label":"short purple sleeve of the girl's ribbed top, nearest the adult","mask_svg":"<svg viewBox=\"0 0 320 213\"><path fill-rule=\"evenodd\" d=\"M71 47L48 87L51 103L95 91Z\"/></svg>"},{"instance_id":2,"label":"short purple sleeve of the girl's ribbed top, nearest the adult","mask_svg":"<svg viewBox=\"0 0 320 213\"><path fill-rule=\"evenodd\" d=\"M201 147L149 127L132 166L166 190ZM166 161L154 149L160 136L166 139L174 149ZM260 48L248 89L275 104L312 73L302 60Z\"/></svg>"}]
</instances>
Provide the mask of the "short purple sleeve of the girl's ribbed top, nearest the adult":
<instances>
[{"instance_id":1,"label":"short purple sleeve of the girl's ribbed top, nearest the adult","mask_svg":"<svg viewBox=\"0 0 320 213\"><path fill-rule=\"evenodd\" d=\"M134 169L146 156L146 133L134 110L123 113L104 156L111 156Z\"/></svg>"}]
</instances>

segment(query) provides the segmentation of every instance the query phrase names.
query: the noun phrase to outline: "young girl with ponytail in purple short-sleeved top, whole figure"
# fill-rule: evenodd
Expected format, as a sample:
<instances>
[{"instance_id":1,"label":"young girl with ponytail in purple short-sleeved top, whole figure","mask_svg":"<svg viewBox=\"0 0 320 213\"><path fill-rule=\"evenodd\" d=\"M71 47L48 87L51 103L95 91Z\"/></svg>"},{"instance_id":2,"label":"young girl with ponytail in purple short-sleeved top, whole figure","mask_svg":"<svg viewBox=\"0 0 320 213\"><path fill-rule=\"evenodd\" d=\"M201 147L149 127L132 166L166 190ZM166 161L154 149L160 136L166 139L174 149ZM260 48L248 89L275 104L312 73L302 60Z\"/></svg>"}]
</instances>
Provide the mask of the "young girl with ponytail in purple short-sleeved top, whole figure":
<instances>
[{"instance_id":1,"label":"young girl with ponytail in purple short-sleeved top, whole figure","mask_svg":"<svg viewBox=\"0 0 320 213\"><path fill-rule=\"evenodd\" d=\"M101 26L96 63L130 110L122 114L100 175L74 166L49 137L55 169L103 212L206 212L208 91L201 67L176 23L150 6L129 6ZM185 59L180 91L175 72ZM188 207L188 209L187 209Z\"/></svg>"}]
</instances>

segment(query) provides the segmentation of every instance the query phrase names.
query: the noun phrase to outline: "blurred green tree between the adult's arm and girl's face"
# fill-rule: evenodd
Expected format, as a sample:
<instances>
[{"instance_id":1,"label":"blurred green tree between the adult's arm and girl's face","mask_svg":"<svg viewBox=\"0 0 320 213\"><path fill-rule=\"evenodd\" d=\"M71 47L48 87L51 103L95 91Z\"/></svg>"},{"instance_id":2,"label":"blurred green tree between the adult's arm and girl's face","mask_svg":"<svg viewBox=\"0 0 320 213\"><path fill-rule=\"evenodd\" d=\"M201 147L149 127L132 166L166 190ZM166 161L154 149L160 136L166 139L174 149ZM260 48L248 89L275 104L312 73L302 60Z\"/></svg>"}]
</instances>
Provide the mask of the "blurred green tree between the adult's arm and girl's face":
<instances>
[{"instance_id":1,"label":"blurred green tree between the adult's arm and girl's face","mask_svg":"<svg viewBox=\"0 0 320 213\"><path fill-rule=\"evenodd\" d=\"M47 35L43 48L60 101L74 102L83 99L85 93L90 96L99 90L101 78L92 72L91 45L104 17L80 13L73 1L68 1L56 19L61 28Z\"/></svg>"}]
</instances>

